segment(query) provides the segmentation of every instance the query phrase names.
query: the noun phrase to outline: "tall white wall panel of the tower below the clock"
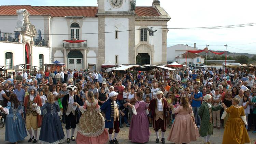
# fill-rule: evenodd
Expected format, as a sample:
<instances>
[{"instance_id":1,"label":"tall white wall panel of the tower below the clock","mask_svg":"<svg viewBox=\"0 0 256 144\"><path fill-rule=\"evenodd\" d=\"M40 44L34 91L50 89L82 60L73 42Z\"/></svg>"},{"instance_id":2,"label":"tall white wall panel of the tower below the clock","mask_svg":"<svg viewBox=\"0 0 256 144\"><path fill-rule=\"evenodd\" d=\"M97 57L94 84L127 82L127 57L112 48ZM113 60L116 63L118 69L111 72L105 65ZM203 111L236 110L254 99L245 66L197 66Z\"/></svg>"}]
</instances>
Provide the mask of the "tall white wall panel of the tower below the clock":
<instances>
[{"instance_id":1,"label":"tall white wall panel of the tower below the clock","mask_svg":"<svg viewBox=\"0 0 256 144\"><path fill-rule=\"evenodd\" d=\"M128 18L105 18L105 32L128 30ZM105 62L110 60L115 63L115 55L118 55L119 64L128 63L129 32L105 33Z\"/></svg>"}]
</instances>

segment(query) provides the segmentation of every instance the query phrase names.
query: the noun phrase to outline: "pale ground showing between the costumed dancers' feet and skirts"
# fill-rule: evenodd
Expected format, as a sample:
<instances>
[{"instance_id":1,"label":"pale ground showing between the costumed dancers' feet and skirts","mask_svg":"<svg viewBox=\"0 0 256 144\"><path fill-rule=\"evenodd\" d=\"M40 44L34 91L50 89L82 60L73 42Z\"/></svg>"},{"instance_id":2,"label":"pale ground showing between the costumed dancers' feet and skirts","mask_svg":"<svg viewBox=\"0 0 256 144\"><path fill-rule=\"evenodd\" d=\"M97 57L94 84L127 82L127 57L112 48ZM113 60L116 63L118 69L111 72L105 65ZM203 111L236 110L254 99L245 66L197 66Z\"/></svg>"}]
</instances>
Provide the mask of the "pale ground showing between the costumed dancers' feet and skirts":
<instances>
[{"instance_id":1,"label":"pale ground showing between the costumed dancers' feet and skirts","mask_svg":"<svg viewBox=\"0 0 256 144\"><path fill-rule=\"evenodd\" d=\"M66 135L65 126L64 125L62 126L63 126L64 133ZM165 133L165 139L167 144L171 143L167 141L167 137L169 135L170 129L171 127L167 127L167 130ZM150 128L150 131L151 131L150 141L147 144L155 144L155 140L156 140L155 131L153 130L152 127ZM221 144L222 138L223 138L223 132L224 132L223 128L221 128L220 130L214 129L213 135L211 136L211 139L210 139L211 144ZM129 128L124 127L120 129L120 132L118 134L119 144L132 144L132 142L128 140L128 133L129 133ZM40 134L40 129L38 130L38 138L39 138L39 134ZM256 141L256 134L253 134L252 131L248 131L248 134L251 139L251 144L254 144ZM75 135L76 135L76 131L75 131ZM161 138L161 132L159 132L159 138ZM28 139L29 139L29 136L25 138L25 141L19 142L19 143L27 144ZM75 142L71 141L71 144L72 143L74 144ZM161 141L159 143L161 143ZM10 144L9 142L5 142L5 128L0 128L0 144ZM30 144L32 144L32 142ZM190 144L204 144L204 140L203 138L200 137L198 138L197 141L191 142Z\"/></svg>"}]
</instances>

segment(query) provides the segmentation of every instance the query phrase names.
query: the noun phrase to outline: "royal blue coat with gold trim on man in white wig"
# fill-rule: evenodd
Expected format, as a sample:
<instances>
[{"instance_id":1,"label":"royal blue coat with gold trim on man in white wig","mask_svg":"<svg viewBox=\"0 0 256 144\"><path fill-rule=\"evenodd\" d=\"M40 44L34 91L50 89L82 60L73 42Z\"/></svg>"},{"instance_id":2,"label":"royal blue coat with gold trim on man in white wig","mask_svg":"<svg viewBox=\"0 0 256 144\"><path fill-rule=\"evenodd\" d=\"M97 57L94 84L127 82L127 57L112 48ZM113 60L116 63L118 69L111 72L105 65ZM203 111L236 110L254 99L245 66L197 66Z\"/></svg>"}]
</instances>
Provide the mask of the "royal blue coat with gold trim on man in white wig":
<instances>
[{"instance_id":1,"label":"royal blue coat with gold trim on man in white wig","mask_svg":"<svg viewBox=\"0 0 256 144\"><path fill-rule=\"evenodd\" d=\"M117 107L119 110L119 127L121 126L121 118L122 115L120 114L120 110L123 107L123 104L121 105L118 100L116 100ZM111 99L108 99L105 101L102 106L100 107L100 110L105 113L105 128L114 128L114 102Z\"/></svg>"}]
</instances>

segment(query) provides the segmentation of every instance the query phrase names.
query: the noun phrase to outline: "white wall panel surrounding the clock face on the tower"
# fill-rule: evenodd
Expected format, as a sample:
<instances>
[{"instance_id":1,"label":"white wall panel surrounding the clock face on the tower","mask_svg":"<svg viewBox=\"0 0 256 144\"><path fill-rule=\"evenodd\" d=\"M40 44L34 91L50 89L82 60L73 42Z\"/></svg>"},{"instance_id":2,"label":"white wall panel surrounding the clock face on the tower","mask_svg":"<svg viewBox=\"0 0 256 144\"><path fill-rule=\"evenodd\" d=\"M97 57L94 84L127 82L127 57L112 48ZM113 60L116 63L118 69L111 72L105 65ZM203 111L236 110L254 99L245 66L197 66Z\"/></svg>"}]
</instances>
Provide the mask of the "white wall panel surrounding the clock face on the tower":
<instances>
[{"instance_id":1,"label":"white wall panel surrounding the clock face on the tower","mask_svg":"<svg viewBox=\"0 0 256 144\"><path fill-rule=\"evenodd\" d=\"M120 8L114 8L110 5L111 0L104 0L104 10L105 11L129 11L130 0L123 0L123 5ZM115 2L115 0L114 0Z\"/></svg>"}]
</instances>

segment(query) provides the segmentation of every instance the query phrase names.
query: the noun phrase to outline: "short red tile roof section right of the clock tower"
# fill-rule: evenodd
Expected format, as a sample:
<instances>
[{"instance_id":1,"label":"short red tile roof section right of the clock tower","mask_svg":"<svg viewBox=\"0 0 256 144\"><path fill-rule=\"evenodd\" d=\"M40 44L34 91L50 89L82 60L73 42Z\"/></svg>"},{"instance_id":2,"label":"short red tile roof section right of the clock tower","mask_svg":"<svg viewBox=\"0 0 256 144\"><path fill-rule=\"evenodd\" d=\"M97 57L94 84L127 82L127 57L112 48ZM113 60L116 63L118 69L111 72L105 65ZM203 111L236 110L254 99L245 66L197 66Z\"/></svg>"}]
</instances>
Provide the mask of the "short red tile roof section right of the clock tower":
<instances>
[{"instance_id":1,"label":"short red tile roof section right of the clock tower","mask_svg":"<svg viewBox=\"0 0 256 144\"><path fill-rule=\"evenodd\" d=\"M136 6L135 13L137 16L160 16L152 6Z\"/></svg>"}]
</instances>

